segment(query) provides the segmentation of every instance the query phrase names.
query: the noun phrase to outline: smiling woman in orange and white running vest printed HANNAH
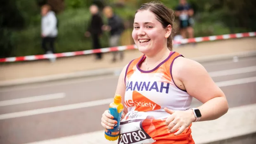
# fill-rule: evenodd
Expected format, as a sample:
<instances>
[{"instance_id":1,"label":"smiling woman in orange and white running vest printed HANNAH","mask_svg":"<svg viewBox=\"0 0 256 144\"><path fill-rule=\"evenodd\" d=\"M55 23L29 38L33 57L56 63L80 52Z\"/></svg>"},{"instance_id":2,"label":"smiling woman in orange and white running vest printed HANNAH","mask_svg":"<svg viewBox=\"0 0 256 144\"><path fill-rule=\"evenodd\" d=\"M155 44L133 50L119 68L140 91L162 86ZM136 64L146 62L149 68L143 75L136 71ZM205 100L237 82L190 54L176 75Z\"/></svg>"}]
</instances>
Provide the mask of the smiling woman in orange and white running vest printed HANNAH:
<instances>
[{"instance_id":1,"label":"smiling woman in orange and white running vest printed HANNAH","mask_svg":"<svg viewBox=\"0 0 256 144\"><path fill-rule=\"evenodd\" d=\"M116 87L125 105L119 144L194 144L193 122L228 111L225 94L205 68L172 51L173 21L173 10L159 2L135 12L132 36L142 56L123 68ZM203 104L190 108L192 98ZM103 113L103 127L113 129L111 117Z\"/></svg>"}]
</instances>

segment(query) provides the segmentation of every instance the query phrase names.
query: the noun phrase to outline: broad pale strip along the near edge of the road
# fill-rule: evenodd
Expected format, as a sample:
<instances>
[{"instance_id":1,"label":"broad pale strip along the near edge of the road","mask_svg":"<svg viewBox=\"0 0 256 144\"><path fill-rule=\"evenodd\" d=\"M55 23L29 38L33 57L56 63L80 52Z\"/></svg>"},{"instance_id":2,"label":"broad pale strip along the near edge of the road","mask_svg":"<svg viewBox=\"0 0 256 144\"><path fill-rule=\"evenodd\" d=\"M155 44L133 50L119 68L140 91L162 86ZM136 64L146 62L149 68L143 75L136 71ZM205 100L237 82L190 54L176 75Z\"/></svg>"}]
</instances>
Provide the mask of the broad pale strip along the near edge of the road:
<instances>
[{"instance_id":1,"label":"broad pale strip along the near edge of the road","mask_svg":"<svg viewBox=\"0 0 256 144\"><path fill-rule=\"evenodd\" d=\"M241 113L237 115L237 113ZM203 121L192 124L192 137L196 144L205 144L222 139L229 139L256 132L255 116L256 104L232 107L224 116L217 120ZM244 122L244 116L247 116ZM236 120L232 120L236 119ZM237 122L238 121L238 122ZM239 123L239 121L242 121ZM212 126L214 125L214 127ZM206 130L205 127L209 127ZM237 127L239 127L237 129ZM242 128L241 128L242 127ZM237 132L239 131L239 132ZM221 134L221 135L220 135ZM212 136L214 135L214 137ZM108 141L104 137L104 128L95 132L88 132L79 135L47 139L26 144L116 144L116 141Z\"/></svg>"}]
</instances>

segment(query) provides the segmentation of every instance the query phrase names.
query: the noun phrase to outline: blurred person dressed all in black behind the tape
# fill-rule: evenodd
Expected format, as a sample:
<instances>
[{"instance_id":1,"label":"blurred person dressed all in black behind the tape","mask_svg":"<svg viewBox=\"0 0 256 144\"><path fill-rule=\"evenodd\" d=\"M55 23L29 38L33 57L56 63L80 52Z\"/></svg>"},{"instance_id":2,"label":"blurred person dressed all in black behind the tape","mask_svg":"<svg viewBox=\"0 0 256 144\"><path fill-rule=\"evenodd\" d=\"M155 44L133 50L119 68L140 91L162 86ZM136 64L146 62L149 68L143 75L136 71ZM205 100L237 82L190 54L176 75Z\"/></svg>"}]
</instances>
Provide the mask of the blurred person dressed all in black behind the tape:
<instances>
[{"instance_id":1,"label":"blurred person dressed all in black behind the tape","mask_svg":"<svg viewBox=\"0 0 256 144\"><path fill-rule=\"evenodd\" d=\"M91 21L88 24L88 29L85 32L85 36L92 37L92 48L99 49L100 45L100 35L102 34L103 21L99 14L98 7L96 5L90 6L90 13L92 14ZM102 59L102 53L96 53L96 59Z\"/></svg>"}]
</instances>

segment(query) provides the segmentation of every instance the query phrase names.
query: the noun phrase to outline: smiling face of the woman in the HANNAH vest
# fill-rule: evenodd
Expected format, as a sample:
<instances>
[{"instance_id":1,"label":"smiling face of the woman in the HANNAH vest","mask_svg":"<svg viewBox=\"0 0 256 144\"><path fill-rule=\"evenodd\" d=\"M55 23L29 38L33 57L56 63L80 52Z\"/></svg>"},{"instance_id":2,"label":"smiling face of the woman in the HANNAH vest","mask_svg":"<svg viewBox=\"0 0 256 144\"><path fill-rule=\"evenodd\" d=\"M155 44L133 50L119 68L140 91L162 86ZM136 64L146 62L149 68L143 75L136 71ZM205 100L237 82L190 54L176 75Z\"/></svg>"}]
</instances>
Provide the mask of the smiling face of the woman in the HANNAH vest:
<instances>
[{"instance_id":1,"label":"smiling face of the woman in the HANNAH vest","mask_svg":"<svg viewBox=\"0 0 256 144\"><path fill-rule=\"evenodd\" d=\"M135 14L133 24L133 40L143 54L154 54L167 47L166 28L156 20L154 13L142 10Z\"/></svg>"}]
</instances>

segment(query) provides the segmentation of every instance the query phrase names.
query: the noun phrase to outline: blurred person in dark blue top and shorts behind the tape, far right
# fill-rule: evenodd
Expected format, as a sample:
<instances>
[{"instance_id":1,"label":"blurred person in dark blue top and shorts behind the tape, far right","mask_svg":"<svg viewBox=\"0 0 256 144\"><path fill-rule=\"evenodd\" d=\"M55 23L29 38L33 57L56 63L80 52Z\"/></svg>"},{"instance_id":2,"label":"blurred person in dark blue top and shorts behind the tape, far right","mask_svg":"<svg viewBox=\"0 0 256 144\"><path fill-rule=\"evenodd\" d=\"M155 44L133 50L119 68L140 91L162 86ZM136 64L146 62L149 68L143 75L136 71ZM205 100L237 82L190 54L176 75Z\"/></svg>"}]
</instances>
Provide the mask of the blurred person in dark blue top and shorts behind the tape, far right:
<instances>
[{"instance_id":1,"label":"blurred person in dark blue top and shorts behind the tape, far right","mask_svg":"<svg viewBox=\"0 0 256 144\"><path fill-rule=\"evenodd\" d=\"M187 0L180 0L180 4L175 9L175 16L180 21L180 34L183 38L193 38L194 29L192 28L193 8L187 3ZM188 33L188 37L186 36Z\"/></svg>"}]
</instances>

